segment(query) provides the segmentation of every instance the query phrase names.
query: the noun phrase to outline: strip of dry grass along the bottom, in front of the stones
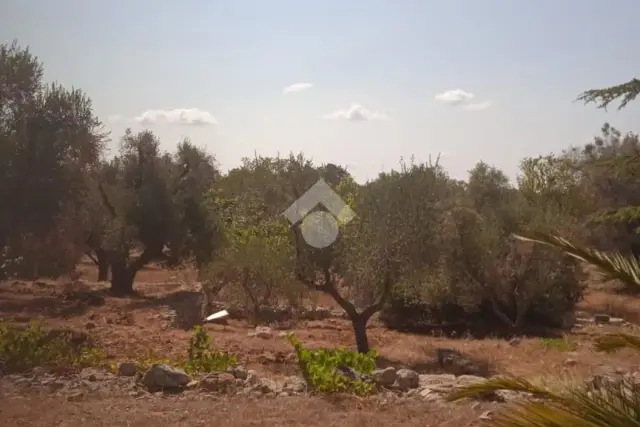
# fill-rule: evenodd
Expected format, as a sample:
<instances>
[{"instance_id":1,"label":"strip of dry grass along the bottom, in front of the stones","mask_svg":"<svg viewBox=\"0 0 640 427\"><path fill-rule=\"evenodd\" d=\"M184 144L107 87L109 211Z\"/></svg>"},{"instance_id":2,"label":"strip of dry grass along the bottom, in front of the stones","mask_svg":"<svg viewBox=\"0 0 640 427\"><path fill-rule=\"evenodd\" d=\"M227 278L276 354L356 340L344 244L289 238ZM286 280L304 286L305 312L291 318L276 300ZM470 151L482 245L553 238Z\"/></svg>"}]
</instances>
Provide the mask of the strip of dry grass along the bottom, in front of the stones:
<instances>
[{"instance_id":1,"label":"strip of dry grass along the bottom, in front of the stones","mask_svg":"<svg viewBox=\"0 0 640 427\"><path fill-rule=\"evenodd\" d=\"M250 409L249 409L250 408ZM77 427L196 427L322 426L406 427L475 425L479 408L444 407L418 402L398 402L384 407L373 402L343 399L330 402L316 397L249 400L136 401L101 399L66 402L51 398L0 398L0 418L7 426Z\"/></svg>"}]
</instances>

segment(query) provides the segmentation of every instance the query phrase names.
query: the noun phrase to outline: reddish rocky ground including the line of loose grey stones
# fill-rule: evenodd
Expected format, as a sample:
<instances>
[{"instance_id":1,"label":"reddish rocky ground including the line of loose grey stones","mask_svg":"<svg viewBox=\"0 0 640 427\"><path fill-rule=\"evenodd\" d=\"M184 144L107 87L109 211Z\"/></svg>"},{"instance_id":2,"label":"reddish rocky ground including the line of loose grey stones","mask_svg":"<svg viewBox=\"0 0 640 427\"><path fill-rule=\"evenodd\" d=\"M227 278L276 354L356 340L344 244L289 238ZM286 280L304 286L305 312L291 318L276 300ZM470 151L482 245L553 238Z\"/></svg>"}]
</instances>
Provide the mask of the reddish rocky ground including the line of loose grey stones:
<instances>
[{"instance_id":1,"label":"reddish rocky ground including the line of loose grey stones","mask_svg":"<svg viewBox=\"0 0 640 427\"><path fill-rule=\"evenodd\" d=\"M330 301L320 301L322 308L297 324L255 328L231 320L207 325L214 345L239 358L241 366L229 372L191 377L164 365L137 372L131 361L150 351L168 359L183 356L190 338L181 328L181 312L188 307L184 298L176 297L190 295L188 280L168 280L161 270L150 270L143 279L146 284L138 285L142 295L134 299L111 298L100 293L99 285L85 284L79 290L56 283L0 284L0 320L24 323L41 318L49 327L90 335L118 366L115 373L36 368L29 374L1 377L2 425L197 426L222 419L232 426L465 426L529 398L499 393L480 400L444 401L456 387L492 375L555 382L637 375L637 355L603 355L591 347L592 338L602 333L636 333L634 302L616 296L614 304L601 291L588 296L576 325L561 340L435 338L389 331L374 322L370 341L381 358L371 380L382 391L371 398L310 393L292 348L282 338L293 332L310 348L352 347L350 325ZM454 349L458 356L438 363L437 350L442 348Z\"/></svg>"}]
</instances>

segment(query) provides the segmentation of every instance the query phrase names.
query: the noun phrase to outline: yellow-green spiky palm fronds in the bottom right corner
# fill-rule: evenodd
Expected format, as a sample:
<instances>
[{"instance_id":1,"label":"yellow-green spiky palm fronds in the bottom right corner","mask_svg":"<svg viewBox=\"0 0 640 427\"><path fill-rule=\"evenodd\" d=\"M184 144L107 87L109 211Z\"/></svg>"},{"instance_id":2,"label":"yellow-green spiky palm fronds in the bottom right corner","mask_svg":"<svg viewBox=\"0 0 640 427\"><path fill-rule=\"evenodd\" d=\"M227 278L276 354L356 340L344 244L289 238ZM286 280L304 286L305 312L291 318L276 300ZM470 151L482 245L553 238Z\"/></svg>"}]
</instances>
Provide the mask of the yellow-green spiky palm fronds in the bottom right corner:
<instances>
[{"instance_id":1,"label":"yellow-green spiky palm fronds in the bottom right corner","mask_svg":"<svg viewBox=\"0 0 640 427\"><path fill-rule=\"evenodd\" d=\"M454 401L499 390L531 393L538 400L514 403L489 423L498 427L640 427L640 393L626 378L600 389L581 387L555 393L522 378L493 378L457 389Z\"/></svg>"}]
</instances>

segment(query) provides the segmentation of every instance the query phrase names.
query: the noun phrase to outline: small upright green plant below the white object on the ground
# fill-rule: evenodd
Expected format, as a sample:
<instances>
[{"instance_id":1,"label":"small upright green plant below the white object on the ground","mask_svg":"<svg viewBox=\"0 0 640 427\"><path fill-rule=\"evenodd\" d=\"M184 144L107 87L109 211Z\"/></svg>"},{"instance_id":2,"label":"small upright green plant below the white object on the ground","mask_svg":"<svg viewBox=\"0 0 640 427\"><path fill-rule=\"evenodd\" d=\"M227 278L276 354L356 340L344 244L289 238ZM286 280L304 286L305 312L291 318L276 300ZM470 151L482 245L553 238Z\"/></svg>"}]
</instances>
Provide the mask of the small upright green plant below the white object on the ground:
<instances>
[{"instance_id":1,"label":"small upright green plant below the white object on the ground","mask_svg":"<svg viewBox=\"0 0 640 427\"><path fill-rule=\"evenodd\" d=\"M236 364L234 355L211 350L211 338L201 326L193 328L188 358L184 369L188 373L226 371Z\"/></svg>"}]
</instances>

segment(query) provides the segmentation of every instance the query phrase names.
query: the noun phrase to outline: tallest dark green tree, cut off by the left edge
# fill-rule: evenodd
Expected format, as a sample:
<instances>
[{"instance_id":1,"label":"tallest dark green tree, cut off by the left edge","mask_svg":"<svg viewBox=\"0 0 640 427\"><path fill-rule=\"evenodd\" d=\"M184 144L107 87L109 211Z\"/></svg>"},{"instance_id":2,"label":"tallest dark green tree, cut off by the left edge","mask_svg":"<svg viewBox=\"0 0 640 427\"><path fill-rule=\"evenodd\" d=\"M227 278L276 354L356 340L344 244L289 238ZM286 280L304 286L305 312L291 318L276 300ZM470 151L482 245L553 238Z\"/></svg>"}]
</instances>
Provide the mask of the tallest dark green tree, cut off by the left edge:
<instances>
[{"instance_id":1,"label":"tallest dark green tree, cut off by the left edge","mask_svg":"<svg viewBox=\"0 0 640 427\"><path fill-rule=\"evenodd\" d=\"M0 205L0 248L22 257L11 274L55 278L82 256L86 178L106 135L91 100L44 84L41 62L17 41L0 44L0 81L0 200L11 200Z\"/></svg>"}]
</instances>

